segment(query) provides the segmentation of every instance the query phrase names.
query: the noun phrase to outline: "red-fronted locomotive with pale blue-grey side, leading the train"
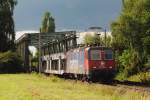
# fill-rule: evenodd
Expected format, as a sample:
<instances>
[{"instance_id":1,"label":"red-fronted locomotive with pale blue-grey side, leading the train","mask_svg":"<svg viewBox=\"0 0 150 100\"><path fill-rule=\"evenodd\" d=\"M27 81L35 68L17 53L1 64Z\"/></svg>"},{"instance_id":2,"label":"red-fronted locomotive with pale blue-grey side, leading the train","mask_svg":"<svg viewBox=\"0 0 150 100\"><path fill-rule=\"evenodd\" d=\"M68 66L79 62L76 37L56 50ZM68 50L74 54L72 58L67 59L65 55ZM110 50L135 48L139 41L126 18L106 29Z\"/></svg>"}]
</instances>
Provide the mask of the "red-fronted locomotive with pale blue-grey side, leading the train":
<instances>
[{"instance_id":1,"label":"red-fronted locomotive with pale blue-grey side, leading the train","mask_svg":"<svg viewBox=\"0 0 150 100\"><path fill-rule=\"evenodd\" d=\"M112 78L115 72L113 51L106 47L86 47L67 52L66 73L88 79Z\"/></svg>"}]
</instances>

